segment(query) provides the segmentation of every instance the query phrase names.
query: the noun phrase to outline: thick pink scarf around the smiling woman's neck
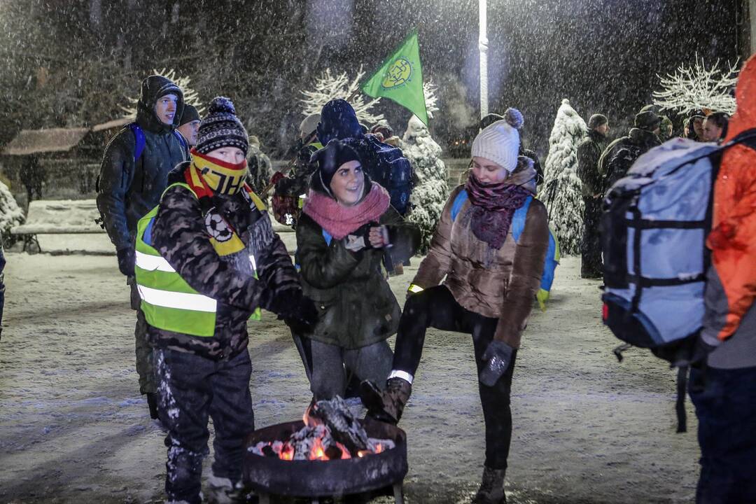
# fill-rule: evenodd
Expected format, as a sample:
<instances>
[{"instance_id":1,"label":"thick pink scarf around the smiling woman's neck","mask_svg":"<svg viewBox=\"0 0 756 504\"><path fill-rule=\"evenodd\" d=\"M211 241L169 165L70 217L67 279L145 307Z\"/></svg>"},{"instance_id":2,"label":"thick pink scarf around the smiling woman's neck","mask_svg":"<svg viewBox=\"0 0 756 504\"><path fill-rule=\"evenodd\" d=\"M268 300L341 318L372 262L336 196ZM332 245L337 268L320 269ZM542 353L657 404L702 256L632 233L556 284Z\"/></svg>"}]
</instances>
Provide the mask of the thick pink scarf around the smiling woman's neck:
<instances>
[{"instance_id":1,"label":"thick pink scarf around the smiling woman's neck","mask_svg":"<svg viewBox=\"0 0 756 504\"><path fill-rule=\"evenodd\" d=\"M373 182L370 192L355 206L342 206L336 199L310 190L302 212L309 215L336 240L368 222L377 222L389 209L391 198L386 189Z\"/></svg>"}]
</instances>

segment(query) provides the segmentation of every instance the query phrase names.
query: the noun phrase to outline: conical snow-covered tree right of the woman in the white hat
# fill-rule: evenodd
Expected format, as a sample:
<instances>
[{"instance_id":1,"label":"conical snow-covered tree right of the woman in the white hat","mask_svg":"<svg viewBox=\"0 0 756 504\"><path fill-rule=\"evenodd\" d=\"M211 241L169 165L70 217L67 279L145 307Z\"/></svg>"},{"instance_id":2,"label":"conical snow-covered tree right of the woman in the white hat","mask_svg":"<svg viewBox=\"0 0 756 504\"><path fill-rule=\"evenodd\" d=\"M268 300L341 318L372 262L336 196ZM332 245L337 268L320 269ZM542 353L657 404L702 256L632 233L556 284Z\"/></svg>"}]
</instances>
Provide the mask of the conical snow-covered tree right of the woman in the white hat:
<instances>
[{"instance_id":1,"label":"conical snow-covered tree right of the woman in the white hat","mask_svg":"<svg viewBox=\"0 0 756 504\"><path fill-rule=\"evenodd\" d=\"M578 254L583 234L583 197L578 178L578 144L587 134L585 121L562 100L549 137L544 165L544 203L562 253Z\"/></svg>"}]
</instances>

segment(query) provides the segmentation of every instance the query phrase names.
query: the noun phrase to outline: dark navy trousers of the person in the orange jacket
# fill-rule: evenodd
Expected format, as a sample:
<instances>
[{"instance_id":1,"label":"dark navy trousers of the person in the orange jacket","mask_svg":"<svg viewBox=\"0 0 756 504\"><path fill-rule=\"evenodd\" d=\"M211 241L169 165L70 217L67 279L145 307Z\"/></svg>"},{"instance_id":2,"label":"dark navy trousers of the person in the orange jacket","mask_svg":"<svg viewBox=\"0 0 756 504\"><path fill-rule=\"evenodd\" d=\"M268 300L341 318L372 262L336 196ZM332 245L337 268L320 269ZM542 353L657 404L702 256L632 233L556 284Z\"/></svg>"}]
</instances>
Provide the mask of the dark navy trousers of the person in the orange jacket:
<instances>
[{"instance_id":1,"label":"dark navy trousers of the person in the orange jacket","mask_svg":"<svg viewBox=\"0 0 756 504\"><path fill-rule=\"evenodd\" d=\"M756 502L756 367L691 369L699 419L698 504Z\"/></svg>"}]
</instances>

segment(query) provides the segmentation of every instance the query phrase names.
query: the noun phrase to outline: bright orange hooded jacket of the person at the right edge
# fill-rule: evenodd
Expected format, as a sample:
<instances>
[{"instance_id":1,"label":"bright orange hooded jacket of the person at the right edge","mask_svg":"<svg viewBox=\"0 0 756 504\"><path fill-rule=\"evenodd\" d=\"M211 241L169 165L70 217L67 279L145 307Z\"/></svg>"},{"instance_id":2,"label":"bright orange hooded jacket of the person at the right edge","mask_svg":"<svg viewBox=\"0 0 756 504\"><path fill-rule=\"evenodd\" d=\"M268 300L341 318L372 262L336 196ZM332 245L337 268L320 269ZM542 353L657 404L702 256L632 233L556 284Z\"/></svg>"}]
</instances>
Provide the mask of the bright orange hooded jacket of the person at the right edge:
<instances>
[{"instance_id":1,"label":"bright orange hooded jacket of the person at the right edge","mask_svg":"<svg viewBox=\"0 0 756 504\"><path fill-rule=\"evenodd\" d=\"M730 119L730 141L756 128L756 57L743 66L736 88L737 110ZM714 182L714 215L706 245L727 297L727 310L707 324L708 335L723 341L738 329L756 298L756 150L727 149Z\"/></svg>"}]
</instances>

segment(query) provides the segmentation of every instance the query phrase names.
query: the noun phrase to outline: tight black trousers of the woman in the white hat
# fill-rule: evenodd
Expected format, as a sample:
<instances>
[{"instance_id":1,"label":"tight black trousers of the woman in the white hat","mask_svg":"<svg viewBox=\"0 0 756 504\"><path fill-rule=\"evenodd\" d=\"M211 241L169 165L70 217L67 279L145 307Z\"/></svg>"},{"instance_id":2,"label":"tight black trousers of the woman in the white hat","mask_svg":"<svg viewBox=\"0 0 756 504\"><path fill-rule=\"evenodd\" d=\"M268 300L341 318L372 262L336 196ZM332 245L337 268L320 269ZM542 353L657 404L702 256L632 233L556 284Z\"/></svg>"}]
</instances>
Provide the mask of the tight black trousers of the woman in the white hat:
<instances>
[{"instance_id":1,"label":"tight black trousers of the woman in the white hat","mask_svg":"<svg viewBox=\"0 0 756 504\"><path fill-rule=\"evenodd\" d=\"M483 317L462 308L445 286L431 287L407 298L399 321L394 348L393 369L413 376L423 354L426 329L466 332L472 335L478 373L485 367L482 355L494 339L498 319ZM487 387L478 382L485 419L485 465L494 469L507 468L512 441L512 410L510 390L517 351L507 371L496 385Z\"/></svg>"}]
</instances>

